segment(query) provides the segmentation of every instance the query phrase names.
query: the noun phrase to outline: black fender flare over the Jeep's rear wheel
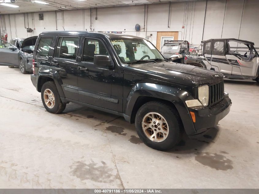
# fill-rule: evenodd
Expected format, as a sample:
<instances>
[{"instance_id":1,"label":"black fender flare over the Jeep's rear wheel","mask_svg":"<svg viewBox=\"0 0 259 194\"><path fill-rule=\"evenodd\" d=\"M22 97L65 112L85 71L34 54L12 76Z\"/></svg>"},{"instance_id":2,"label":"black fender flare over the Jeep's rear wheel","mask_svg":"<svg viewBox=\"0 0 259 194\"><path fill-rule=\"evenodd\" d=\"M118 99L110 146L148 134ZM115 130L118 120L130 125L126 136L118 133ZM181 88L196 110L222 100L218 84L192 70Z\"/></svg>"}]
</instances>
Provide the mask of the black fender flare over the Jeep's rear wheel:
<instances>
[{"instance_id":1,"label":"black fender flare over the Jeep's rear wheel","mask_svg":"<svg viewBox=\"0 0 259 194\"><path fill-rule=\"evenodd\" d=\"M47 67L42 66L39 68L38 76L36 78L36 89L38 92L41 92L38 83L40 83L40 79L42 78L51 78L55 82L55 85L58 89L60 97L65 97L64 91L62 89L63 82L59 73L56 70L51 69L48 66Z\"/></svg>"}]
</instances>

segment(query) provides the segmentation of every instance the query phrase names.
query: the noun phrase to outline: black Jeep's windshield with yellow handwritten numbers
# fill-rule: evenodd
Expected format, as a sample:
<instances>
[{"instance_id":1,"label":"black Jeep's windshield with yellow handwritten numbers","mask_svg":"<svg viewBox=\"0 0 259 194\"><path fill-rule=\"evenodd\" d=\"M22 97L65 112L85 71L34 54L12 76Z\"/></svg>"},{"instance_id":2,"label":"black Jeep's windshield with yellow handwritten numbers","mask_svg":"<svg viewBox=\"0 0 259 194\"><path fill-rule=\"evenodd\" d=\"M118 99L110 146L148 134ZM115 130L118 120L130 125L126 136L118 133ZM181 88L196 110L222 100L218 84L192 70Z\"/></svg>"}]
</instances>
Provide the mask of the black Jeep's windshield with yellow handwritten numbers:
<instances>
[{"instance_id":1,"label":"black Jeep's windshield with yellow handwritten numbers","mask_svg":"<svg viewBox=\"0 0 259 194\"><path fill-rule=\"evenodd\" d=\"M164 60L161 53L147 40L120 37L110 38L110 41L114 50L118 54L120 61L124 64L135 62L137 60Z\"/></svg>"}]
</instances>

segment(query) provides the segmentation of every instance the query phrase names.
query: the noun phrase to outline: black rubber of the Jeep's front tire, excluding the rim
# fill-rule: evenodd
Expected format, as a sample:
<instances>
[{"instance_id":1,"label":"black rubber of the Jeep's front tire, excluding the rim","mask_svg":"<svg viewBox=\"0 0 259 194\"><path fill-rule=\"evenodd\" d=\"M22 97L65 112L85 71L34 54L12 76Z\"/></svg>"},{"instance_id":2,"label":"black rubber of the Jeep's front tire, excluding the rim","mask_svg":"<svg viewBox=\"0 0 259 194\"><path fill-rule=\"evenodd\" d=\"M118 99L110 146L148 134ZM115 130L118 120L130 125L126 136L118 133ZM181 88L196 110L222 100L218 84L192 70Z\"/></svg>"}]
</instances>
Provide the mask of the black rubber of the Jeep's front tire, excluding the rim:
<instances>
[{"instance_id":1,"label":"black rubber of the Jeep's front tire, excluding the rim","mask_svg":"<svg viewBox=\"0 0 259 194\"><path fill-rule=\"evenodd\" d=\"M143 117L149 112L157 112L161 114L168 123L169 132L167 138L162 142L151 141L147 138L142 129ZM135 117L135 126L139 138L143 141L143 143L155 150L169 150L179 143L182 137L182 124L177 110L175 110L172 106L159 101L147 102L139 108Z\"/></svg>"}]
</instances>

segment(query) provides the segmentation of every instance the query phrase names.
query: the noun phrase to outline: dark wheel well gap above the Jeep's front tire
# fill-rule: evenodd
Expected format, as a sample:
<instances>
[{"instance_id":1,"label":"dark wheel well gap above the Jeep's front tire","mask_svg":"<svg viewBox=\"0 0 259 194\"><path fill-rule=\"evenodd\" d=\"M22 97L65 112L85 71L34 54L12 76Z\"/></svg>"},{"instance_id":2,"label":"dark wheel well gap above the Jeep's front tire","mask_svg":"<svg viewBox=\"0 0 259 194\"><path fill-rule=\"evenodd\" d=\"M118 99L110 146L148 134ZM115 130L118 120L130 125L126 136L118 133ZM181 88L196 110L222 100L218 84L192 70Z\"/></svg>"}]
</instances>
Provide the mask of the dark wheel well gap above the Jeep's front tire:
<instances>
[{"instance_id":1,"label":"dark wheel well gap above the Jeep's front tire","mask_svg":"<svg viewBox=\"0 0 259 194\"><path fill-rule=\"evenodd\" d=\"M138 97L138 99L136 100L135 105L134 105L134 107L133 107L133 109L132 109L131 118L130 118L130 123L134 123L134 122L135 122L135 116L136 116L136 114L137 114L139 108L140 108L143 104L145 104L145 103L147 103L147 102L150 102L150 101L159 101L159 102L162 102L162 103L164 103L164 104L167 104L167 105L173 107L173 108L177 111L175 105L174 105L172 102L170 102L170 101L163 100L163 99L160 99L160 98L155 98L155 97L140 96L140 97ZM177 111L177 112L178 112L178 111Z\"/></svg>"}]
</instances>

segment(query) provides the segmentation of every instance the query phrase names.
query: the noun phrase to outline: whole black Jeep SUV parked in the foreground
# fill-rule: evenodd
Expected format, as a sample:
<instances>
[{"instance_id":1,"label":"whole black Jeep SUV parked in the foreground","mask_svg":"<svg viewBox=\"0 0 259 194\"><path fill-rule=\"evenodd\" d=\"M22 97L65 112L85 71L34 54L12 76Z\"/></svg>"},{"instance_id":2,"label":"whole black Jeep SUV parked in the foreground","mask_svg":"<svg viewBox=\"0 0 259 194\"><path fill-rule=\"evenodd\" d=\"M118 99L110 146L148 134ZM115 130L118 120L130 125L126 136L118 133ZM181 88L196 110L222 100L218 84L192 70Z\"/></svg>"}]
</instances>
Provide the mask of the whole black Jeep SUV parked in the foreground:
<instances>
[{"instance_id":1,"label":"whole black Jeep SUV parked in the foreground","mask_svg":"<svg viewBox=\"0 0 259 194\"><path fill-rule=\"evenodd\" d=\"M214 127L230 111L223 75L166 62L148 40L98 32L43 32L33 54L33 85L48 112L69 102L124 116L157 150Z\"/></svg>"}]
</instances>

